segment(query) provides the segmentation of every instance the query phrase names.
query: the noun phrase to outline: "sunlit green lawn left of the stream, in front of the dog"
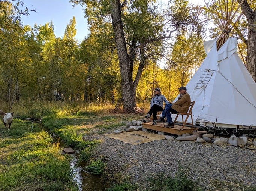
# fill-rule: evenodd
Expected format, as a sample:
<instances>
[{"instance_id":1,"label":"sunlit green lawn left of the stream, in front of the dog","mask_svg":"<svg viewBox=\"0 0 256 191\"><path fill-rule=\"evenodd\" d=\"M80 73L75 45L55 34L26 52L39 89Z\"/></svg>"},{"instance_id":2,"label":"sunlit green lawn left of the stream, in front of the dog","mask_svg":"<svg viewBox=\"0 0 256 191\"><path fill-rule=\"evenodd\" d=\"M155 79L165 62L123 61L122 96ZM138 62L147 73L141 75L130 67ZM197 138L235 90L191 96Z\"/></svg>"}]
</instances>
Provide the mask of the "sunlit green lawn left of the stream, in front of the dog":
<instances>
[{"instance_id":1,"label":"sunlit green lawn left of the stream, in front of the dog","mask_svg":"<svg viewBox=\"0 0 256 191\"><path fill-rule=\"evenodd\" d=\"M68 156L38 123L31 132L27 122L14 119L10 131L1 131L0 142L0 191L78 189Z\"/></svg>"}]
</instances>

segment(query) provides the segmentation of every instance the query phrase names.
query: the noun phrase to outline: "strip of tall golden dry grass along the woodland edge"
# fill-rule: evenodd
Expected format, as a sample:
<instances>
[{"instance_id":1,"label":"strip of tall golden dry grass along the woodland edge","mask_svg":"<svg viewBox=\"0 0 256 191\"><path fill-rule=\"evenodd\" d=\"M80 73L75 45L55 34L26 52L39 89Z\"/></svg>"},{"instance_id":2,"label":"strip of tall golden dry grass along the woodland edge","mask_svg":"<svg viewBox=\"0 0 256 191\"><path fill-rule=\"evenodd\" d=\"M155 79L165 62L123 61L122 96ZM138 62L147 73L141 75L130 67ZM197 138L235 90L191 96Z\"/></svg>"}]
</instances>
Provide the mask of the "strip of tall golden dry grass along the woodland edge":
<instances>
[{"instance_id":1,"label":"strip of tall golden dry grass along the woodland edge","mask_svg":"<svg viewBox=\"0 0 256 191\"><path fill-rule=\"evenodd\" d=\"M54 114L56 117L79 115L83 113L90 113L94 115L108 115L109 110L115 108L112 103L98 103L98 102L40 102L40 101L19 101L12 105L9 110L9 104L0 101L1 108L4 112L14 112L14 115L19 118L42 118L43 116ZM144 113L149 110L150 103L137 103L137 107L144 108Z\"/></svg>"}]
</instances>

